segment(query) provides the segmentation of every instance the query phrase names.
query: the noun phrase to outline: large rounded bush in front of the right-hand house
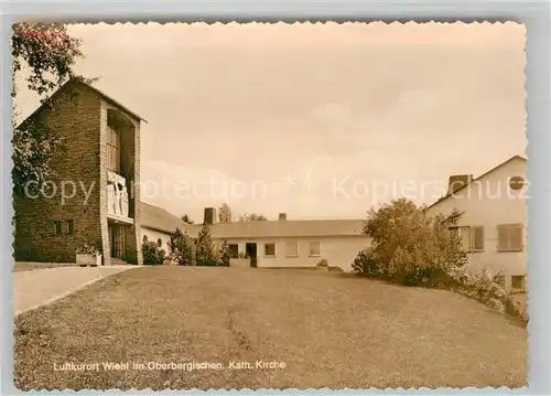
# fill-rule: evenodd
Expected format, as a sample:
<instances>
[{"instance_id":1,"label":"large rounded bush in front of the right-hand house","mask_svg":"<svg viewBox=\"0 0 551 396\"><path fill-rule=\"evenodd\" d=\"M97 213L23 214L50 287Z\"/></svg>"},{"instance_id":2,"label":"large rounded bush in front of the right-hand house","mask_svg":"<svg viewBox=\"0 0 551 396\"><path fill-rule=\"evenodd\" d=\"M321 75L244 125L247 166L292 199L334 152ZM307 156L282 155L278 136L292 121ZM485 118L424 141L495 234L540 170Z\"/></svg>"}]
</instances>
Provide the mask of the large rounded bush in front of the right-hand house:
<instances>
[{"instance_id":1,"label":"large rounded bush in front of the right-hand house","mask_svg":"<svg viewBox=\"0 0 551 396\"><path fill-rule=\"evenodd\" d=\"M367 214L364 234L371 246L358 254L356 271L375 275L407 285L426 285L433 276L449 274L466 264L461 237L451 232L461 213L428 216L424 207L400 199Z\"/></svg>"}]
</instances>

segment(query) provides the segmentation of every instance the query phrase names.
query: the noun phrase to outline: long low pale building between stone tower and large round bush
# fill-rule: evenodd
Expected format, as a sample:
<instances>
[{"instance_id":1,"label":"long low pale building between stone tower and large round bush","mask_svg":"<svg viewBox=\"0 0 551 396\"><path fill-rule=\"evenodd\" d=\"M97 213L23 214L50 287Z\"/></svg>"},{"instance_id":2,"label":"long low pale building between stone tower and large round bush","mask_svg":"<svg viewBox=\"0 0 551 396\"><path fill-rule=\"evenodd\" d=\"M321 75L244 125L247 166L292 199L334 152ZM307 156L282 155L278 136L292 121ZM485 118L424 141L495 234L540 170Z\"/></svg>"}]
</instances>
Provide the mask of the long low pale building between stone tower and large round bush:
<instances>
[{"instance_id":1,"label":"long low pale building between stone tower and large round bush","mask_svg":"<svg viewBox=\"0 0 551 396\"><path fill-rule=\"evenodd\" d=\"M142 240L153 240L168 251L166 242L176 227L196 237L202 225L185 224L173 214L149 204L141 205ZM205 208L205 221L216 245L229 245L231 256L247 256L252 267L314 268L326 259L331 267L352 270L359 250L369 246L361 234L364 221L278 221L217 223L216 208Z\"/></svg>"}]
</instances>

